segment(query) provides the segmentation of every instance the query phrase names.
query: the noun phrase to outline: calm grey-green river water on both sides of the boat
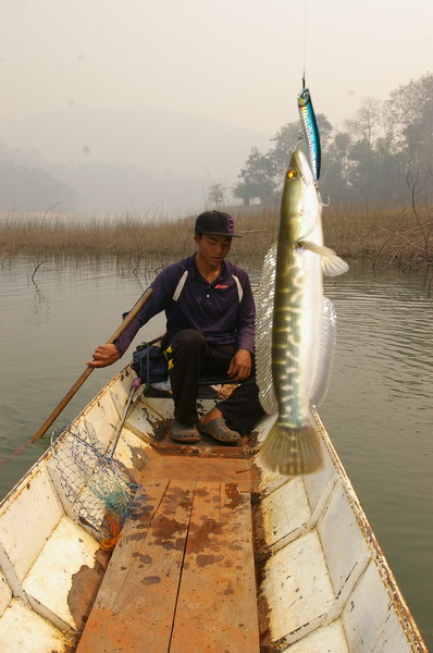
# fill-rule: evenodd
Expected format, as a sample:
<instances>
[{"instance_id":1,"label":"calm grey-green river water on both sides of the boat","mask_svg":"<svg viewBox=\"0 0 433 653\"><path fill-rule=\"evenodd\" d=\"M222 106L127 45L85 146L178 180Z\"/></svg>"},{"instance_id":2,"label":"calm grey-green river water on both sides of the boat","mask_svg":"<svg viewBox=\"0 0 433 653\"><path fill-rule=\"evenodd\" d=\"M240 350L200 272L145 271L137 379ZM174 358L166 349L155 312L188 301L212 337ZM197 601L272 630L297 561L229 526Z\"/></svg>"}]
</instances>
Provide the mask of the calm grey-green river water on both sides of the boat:
<instances>
[{"instance_id":1,"label":"calm grey-green river water on both sides of the boat","mask_svg":"<svg viewBox=\"0 0 433 653\"><path fill-rule=\"evenodd\" d=\"M32 280L38 262L7 258L0 268L0 456L36 432L160 264L133 274L115 260L48 260ZM418 276L360 264L326 281L325 292L337 309L338 338L320 415L431 645L433 299ZM136 344L162 329L154 318ZM71 421L124 362L95 371L57 426ZM47 446L39 441L0 468L1 496Z\"/></svg>"}]
</instances>

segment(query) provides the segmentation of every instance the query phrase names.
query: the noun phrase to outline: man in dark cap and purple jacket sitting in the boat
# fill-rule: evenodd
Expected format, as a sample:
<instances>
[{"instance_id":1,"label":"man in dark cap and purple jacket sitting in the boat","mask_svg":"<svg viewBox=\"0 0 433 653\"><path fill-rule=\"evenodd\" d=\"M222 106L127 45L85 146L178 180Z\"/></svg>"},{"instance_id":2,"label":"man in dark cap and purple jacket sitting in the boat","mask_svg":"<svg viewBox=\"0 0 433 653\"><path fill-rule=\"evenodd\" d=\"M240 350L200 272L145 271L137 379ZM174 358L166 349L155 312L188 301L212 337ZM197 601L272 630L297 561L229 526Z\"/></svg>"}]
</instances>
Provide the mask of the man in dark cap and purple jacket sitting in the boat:
<instances>
[{"instance_id":1,"label":"man in dark cap and purple jacket sitting in the boat","mask_svg":"<svg viewBox=\"0 0 433 653\"><path fill-rule=\"evenodd\" d=\"M253 372L255 303L248 274L225 261L234 233L233 218L222 211L198 215L197 251L162 270L150 284L146 306L114 344L100 345L89 367L112 365L126 352L140 326L162 310L166 333L161 347L170 358L174 399L171 435L198 442L200 432L236 443L263 415ZM242 384L210 412L198 418L197 384L202 373L230 377Z\"/></svg>"}]
</instances>

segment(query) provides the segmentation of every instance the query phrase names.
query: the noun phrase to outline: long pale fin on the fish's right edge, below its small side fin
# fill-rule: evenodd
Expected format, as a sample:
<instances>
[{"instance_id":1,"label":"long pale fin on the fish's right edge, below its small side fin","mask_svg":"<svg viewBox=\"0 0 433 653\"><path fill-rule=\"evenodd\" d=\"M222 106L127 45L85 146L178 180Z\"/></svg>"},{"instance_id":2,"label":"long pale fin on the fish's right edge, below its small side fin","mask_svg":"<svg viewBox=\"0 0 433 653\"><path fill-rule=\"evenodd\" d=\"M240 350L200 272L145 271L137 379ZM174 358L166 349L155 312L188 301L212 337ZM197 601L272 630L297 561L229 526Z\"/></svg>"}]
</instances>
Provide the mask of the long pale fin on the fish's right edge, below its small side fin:
<instances>
[{"instance_id":1,"label":"long pale fin on the fish's right edge, below its small side fin","mask_svg":"<svg viewBox=\"0 0 433 653\"><path fill-rule=\"evenodd\" d=\"M323 297L322 333L318 367L311 390L311 404L320 406L326 396L337 334L337 316L331 299Z\"/></svg>"}]
</instances>

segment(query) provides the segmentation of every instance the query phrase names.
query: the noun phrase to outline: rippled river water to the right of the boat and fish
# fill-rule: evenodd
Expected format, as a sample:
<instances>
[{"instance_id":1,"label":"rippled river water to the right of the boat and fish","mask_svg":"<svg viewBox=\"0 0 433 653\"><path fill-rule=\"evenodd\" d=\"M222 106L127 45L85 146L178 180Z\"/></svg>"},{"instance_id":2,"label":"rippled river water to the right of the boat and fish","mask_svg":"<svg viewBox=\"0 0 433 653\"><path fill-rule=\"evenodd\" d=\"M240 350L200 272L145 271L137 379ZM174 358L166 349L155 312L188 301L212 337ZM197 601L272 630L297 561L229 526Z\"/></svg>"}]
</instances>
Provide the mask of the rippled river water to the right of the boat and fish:
<instances>
[{"instance_id":1,"label":"rippled river water to the right of the boat and fish","mask_svg":"<svg viewBox=\"0 0 433 653\"><path fill-rule=\"evenodd\" d=\"M433 644L433 299L422 280L350 270L320 414L397 582Z\"/></svg>"}]
</instances>

